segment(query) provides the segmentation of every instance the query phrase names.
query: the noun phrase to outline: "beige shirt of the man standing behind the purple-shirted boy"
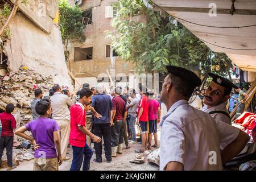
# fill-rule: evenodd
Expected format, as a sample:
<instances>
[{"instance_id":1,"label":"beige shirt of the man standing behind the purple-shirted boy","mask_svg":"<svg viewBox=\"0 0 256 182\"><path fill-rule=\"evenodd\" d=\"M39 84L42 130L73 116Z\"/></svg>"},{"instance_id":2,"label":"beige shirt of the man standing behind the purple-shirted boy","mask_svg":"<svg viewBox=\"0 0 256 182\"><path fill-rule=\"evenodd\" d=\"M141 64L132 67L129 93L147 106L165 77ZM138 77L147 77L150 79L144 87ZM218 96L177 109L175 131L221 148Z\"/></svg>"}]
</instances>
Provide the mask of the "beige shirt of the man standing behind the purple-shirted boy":
<instances>
[{"instance_id":1,"label":"beige shirt of the man standing behind the purple-shirted boy","mask_svg":"<svg viewBox=\"0 0 256 182\"><path fill-rule=\"evenodd\" d=\"M60 92L54 93L54 95L51 97L52 118L56 120L70 120L69 107L71 107L72 104L73 102L71 99L65 94Z\"/></svg>"}]
</instances>

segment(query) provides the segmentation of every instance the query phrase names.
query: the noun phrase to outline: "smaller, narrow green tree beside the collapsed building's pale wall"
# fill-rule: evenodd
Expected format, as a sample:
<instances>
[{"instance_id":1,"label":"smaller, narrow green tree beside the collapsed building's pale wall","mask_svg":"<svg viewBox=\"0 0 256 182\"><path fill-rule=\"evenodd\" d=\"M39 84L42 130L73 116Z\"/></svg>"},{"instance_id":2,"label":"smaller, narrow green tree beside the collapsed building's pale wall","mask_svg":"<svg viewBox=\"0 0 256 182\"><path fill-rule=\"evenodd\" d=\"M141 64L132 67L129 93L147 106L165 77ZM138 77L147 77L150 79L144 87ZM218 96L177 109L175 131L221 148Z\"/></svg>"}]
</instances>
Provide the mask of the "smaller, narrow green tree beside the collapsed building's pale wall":
<instances>
[{"instance_id":1,"label":"smaller, narrow green tree beside the collapsed building's pale wall","mask_svg":"<svg viewBox=\"0 0 256 182\"><path fill-rule=\"evenodd\" d=\"M61 37L70 69L68 45L71 42L82 43L85 41L85 26L82 24L82 11L77 6L69 5L67 0L59 1L59 11Z\"/></svg>"}]
</instances>

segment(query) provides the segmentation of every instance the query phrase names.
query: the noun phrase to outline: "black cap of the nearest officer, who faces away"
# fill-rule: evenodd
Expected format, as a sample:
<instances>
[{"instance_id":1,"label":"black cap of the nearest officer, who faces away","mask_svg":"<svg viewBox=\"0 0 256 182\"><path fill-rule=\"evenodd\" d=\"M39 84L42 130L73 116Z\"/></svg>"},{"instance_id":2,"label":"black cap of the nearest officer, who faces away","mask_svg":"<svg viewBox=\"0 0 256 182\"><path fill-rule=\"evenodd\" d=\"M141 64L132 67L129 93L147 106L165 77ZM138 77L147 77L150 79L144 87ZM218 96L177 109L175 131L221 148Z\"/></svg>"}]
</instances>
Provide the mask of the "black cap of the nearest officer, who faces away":
<instances>
[{"instance_id":1,"label":"black cap of the nearest officer, who faces away","mask_svg":"<svg viewBox=\"0 0 256 182\"><path fill-rule=\"evenodd\" d=\"M188 81L189 84L191 84L192 86L197 87L202 84L201 79L195 73L193 73L192 71L189 71L188 69L175 67L171 65L166 66L166 69L169 73L172 73Z\"/></svg>"}]
</instances>

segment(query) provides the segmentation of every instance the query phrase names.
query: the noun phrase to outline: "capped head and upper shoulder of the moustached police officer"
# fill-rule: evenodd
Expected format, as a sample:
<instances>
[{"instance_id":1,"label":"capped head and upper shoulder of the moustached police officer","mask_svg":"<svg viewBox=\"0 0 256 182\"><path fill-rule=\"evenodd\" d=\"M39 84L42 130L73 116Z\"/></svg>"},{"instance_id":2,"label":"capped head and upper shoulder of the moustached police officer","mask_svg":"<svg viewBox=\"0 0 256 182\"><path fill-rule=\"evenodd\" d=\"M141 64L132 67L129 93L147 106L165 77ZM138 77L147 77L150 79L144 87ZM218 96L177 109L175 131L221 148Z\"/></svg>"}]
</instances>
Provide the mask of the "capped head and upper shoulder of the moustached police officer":
<instances>
[{"instance_id":1,"label":"capped head and upper shoulder of the moustached police officer","mask_svg":"<svg viewBox=\"0 0 256 182\"><path fill-rule=\"evenodd\" d=\"M227 78L219 75L209 73L212 77L204 97L204 107L201 109L210 115L217 121L222 121L231 125L231 118L229 111L226 109L226 101L229 99L229 94L232 88L237 88Z\"/></svg>"}]
</instances>

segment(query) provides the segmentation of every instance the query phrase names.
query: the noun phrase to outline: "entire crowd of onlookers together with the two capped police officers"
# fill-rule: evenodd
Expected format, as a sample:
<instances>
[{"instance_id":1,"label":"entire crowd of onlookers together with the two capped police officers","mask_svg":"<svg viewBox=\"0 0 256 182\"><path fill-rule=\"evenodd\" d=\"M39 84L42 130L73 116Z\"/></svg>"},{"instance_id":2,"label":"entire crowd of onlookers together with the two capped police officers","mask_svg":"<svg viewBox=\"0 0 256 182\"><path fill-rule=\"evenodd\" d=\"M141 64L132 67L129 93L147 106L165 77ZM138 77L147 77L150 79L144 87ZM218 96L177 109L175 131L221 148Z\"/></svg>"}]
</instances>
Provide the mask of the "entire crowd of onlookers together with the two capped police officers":
<instances>
[{"instance_id":1,"label":"entire crowd of onlookers together with the two capped police officers","mask_svg":"<svg viewBox=\"0 0 256 182\"><path fill-rule=\"evenodd\" d=\"M68 88L58 84L52 86L46 97L36 89L31 101L33 120L15 131L34 146L34 170L58 170L63 160L70 159L66 156L70 145L70 170L79 171L82 167L87 171L94 152L94 162L102 163L104 148L106 162L111 163L112 158L122 154L123 143L129 149L138 140L141 147L135 152L160 146L160 170L221 169L249 140L247 134L232 126L226 102L233 103L230 94L235 89L239 96L234 100L238 100L238 112L242 113L247 94L213 73L209 73L212 81L207 89L195 92L201 85L195 73L173 66L167 66L167 70L160 96L143 85L139 93L127 86L112 86L107 93L102 85L90 88L83 84L74 100ZM11 114L14 108L8 104L0 114L0 159L6 148L8 169L15 167L12 159L16 121ZM26 131L31 131L32 136ZM212 151L216 154L214 165L209 163Z\"/></svg>"}]
</instances>

